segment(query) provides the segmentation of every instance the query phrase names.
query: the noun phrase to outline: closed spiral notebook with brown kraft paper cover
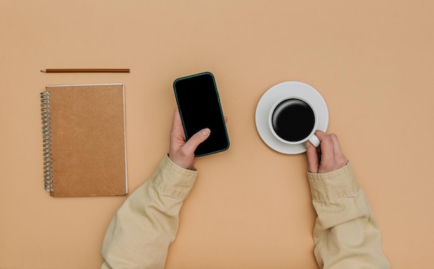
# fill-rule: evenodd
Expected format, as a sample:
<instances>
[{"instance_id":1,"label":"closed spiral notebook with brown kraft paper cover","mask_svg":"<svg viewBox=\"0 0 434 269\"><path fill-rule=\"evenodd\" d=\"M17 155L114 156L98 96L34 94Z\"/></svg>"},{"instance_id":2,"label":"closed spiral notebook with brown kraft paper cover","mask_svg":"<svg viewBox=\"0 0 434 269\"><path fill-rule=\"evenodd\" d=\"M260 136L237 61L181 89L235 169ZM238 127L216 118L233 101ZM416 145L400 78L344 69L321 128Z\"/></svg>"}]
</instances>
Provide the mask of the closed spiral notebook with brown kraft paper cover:
<instances>
[{"instance_id":1,"label":"closed spiral notebook with brown kraft paper cover","mask_svg":"<svg viewBox=\"0 0 434 269\"><path fill-rule=\"evenodd\" d=\"M123 84L50 85L41 111L51 196L128 193Z\"/></svg>"}]
</instances>

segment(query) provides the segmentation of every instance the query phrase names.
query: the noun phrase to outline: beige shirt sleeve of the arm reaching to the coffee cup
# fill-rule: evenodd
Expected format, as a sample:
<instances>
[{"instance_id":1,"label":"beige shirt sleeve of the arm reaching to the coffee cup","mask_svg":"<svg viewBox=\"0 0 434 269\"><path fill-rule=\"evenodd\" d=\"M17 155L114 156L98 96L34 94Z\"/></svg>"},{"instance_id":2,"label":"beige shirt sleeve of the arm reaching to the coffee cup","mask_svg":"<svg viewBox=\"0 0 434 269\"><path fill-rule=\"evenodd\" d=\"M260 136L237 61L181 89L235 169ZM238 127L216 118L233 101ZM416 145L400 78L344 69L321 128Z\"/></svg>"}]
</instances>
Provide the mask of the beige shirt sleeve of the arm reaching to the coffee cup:
<instances>
[{"instance_id":1,"label":"beige shirt sleeve of the arm reaching to the coffee cup","mask_svg":"<svg viewBox=\"0 0 434 269\"><path fill-rule=\"evenodd\" d=\"M390 268L381 233L350 164L331 173L308 173L315 258L320 268Z\"/></svg>"}]
</instances>

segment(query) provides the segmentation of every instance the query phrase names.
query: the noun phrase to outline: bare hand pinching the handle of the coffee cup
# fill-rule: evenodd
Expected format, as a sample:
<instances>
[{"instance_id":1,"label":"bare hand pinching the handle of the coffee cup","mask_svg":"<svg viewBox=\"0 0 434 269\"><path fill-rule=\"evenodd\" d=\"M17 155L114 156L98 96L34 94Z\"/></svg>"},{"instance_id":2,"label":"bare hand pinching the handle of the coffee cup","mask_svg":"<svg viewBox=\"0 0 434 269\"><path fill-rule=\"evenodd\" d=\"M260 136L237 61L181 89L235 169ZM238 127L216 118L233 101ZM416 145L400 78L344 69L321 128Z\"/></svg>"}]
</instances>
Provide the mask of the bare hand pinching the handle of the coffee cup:
<instances>
[{"instance_id":1,"label":"bare hand pinching the handle of the coffee cup","mask_svg":"<svg viewBox=\"0 0 434 269\"><path fill-rule=\"evenodd\" d=\"M318 130L315 135L321 141L318 148L309 141L305 143L309 172L328 173L344 167L348 159L340 150L336 134L325 134Z\"/></svg>"}]
</instances>

